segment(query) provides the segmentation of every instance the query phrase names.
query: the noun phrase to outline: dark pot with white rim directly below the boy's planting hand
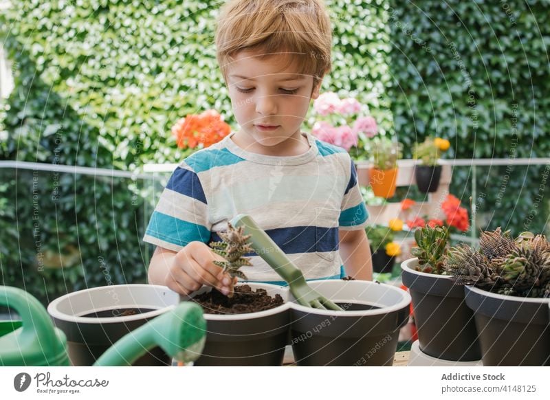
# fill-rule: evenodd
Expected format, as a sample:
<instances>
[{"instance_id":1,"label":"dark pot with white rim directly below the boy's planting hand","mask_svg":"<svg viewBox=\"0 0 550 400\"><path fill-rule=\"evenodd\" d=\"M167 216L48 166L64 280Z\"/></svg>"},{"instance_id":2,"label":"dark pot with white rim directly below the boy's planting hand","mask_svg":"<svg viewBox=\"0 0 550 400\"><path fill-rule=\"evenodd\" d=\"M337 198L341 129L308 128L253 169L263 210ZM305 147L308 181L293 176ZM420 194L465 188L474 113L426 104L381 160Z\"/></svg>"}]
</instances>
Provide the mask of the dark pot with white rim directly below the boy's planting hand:
<instances>
[{"instance_id":1,"label":"dark pot with white rim directly below the boy's planting hand","mask_svg":"<svg viewBox=\"0 0 550 400\"><path fill-rule=\"evenodd\" d=\"M206 344L196 366L280 366L290 328L288 289L278 285L248 282L252 289L283 297L285 304L257 313L234 315L204 314ZM210 291L203 287L190 297Z\"/></svg>"}]
</instances>

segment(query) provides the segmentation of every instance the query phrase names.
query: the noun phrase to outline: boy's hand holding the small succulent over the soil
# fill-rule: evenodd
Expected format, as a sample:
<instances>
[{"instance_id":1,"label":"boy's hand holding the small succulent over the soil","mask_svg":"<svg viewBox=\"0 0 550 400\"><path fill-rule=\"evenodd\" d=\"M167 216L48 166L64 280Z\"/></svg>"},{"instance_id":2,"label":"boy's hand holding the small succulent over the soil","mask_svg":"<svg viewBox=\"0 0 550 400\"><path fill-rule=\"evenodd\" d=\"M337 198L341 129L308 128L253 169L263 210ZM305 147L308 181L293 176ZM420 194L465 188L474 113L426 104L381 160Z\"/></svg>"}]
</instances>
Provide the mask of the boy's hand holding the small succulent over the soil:
<instances>
[{"instance_id":1,"label":"boy's hand holding the small succulent over the soil","mask_svg":"<svg viewBox=\"0 0 550 400\"><path fill-rule=\"evenodd\" d=\"M215 287L225 296L233 291L237 278L224 273L212 261L223 261L223 257L212 252L202 242L191 242L177 252L170 265L166 286L184 295L199 290L202 285Z\"/></svg>"}]
</instances>

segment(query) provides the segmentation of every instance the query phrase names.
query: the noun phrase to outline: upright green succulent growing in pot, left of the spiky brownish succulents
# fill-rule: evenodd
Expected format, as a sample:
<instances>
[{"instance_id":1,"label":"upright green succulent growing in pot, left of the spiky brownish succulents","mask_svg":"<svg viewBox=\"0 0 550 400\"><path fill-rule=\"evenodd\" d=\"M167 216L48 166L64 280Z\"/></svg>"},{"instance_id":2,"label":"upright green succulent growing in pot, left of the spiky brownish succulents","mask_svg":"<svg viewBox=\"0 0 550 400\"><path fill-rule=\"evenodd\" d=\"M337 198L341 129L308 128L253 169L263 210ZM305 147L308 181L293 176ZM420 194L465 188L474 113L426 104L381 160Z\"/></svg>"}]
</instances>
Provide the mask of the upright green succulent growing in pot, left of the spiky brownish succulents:
<instances>
[{"instance_id":1,"label":"upright green succulent growing in pot, left of the spiky brownish succulents","mask_svg":"<svg viewBox=\"0 0 550 400\"><path fill-rule=\"evenodd\" d=\"M449 241L449 230L446 226L418 228L415 231L417 245L412 247L411 253L418 257L417 271L428 274L443 274L445 247Z\"/></svg>"}]
</instances>

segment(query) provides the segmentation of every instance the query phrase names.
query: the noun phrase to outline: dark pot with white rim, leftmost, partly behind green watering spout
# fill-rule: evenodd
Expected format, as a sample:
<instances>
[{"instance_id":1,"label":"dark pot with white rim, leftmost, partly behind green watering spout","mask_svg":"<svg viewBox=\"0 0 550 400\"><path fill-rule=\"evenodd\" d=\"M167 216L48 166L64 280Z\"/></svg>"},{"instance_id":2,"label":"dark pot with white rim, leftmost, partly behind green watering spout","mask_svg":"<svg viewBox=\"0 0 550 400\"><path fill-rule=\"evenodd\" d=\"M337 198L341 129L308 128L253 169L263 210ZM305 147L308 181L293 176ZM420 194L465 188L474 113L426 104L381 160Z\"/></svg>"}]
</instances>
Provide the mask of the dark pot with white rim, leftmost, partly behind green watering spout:
<instances>
[{"instance_id":1,"label":"dark pot with white rim, leftmost, partly behind green watering spout","mask_svg":"<svg viewBox=\"0 0 550 400\"><path fill-rule=\"evenodd\" d=\"M68 293L52 301L47 311L54 324L67 335L71 364L91 366L126 333L173 309L178 303L179 295L164 286L112 285ZM113 311L120 309L142 312L116 316ZM170 364L170 357L157 347L133 365Z\"/></svg>"}]
</instances>

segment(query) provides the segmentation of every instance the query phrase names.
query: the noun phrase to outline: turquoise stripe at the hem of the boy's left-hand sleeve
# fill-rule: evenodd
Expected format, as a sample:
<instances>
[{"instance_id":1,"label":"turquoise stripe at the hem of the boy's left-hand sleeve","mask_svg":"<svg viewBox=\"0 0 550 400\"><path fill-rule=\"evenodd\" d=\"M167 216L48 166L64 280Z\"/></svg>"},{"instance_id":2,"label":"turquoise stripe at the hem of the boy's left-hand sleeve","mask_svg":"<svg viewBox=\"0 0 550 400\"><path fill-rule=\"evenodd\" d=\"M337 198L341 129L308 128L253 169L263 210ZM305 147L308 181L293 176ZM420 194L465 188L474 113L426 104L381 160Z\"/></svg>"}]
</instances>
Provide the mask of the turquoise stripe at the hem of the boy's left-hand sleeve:
<instances>
[{"instance_id":1,"label":"turquoise stripe at the hem of the boy's left-hand sleeve","mask_svg":"<svg viewBox=\"0 0 550 400\"><path fill-rule=\"evenodd\" d=\"M192 241L207 243L210 238L210 230L206 226L181 221L158 211L153 212L145 234L179 246L186 246Z\"/></svg>"}]
</instances>

